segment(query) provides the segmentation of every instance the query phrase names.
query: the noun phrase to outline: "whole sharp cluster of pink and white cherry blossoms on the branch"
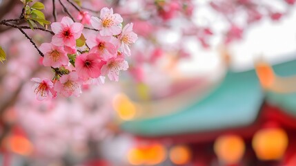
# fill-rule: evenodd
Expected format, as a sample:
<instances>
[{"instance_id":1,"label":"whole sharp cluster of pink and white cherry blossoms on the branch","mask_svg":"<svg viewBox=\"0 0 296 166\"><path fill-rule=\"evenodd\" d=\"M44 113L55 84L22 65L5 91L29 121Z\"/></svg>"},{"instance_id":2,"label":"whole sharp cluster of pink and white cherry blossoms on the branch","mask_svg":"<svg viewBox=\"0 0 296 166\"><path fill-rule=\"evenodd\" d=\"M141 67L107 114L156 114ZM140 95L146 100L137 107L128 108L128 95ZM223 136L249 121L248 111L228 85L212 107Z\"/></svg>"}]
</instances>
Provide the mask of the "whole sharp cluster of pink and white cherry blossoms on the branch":
<instances>
[{"instance_id":1,"label":"whole sharp cluster of pink and white cherry blossoms on the branch","mask_svg":"<svg viewBox=\"0 0 296 166\"><path fill-rule=\"evenodd\" d=\"M117 82L119 72L128 69L129 46L137 40L137 34L132 32L133 24L122 28L123 19L113 13L112 8L102 8L100 17L83 14L83 17L79 15L81 23L90 23L96 29L91 37L85 39L85 46L77 44L84 38L83 24L69 17L51 24L55 35L50 43L41 44L39 50L44 55L42 64L51 66L55 77L52 80L32 78L36 82L34 93L37 100L55 98L57 94L79 96L83 84L103 84L105 76ZM83 47L85 50L81 50Z\"/></svg>"}]
</instances>

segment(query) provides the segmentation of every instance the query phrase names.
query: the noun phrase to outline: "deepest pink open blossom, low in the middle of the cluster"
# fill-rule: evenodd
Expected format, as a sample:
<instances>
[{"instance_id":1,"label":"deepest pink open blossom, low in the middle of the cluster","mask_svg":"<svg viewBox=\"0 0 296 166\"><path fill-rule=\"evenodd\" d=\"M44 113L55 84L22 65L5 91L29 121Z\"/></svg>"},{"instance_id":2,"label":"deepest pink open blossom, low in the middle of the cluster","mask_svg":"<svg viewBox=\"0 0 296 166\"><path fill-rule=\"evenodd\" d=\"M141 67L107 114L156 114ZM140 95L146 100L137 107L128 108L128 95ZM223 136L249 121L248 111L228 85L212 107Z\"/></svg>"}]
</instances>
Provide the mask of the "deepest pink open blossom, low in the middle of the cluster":
<instances>
[{"instance_id":1,"label":"deepest pink open blossom, low in the middle of the cluster","mask_svg":"<svg viewBox=\"0 0 296 166\"><path fill-rule=\"evenodd\" d=\"M79 78L97 78L101 75L103 62L99 59L99 54L83 53L76 58L75 67Z\"/></svg>"}]
</instances>

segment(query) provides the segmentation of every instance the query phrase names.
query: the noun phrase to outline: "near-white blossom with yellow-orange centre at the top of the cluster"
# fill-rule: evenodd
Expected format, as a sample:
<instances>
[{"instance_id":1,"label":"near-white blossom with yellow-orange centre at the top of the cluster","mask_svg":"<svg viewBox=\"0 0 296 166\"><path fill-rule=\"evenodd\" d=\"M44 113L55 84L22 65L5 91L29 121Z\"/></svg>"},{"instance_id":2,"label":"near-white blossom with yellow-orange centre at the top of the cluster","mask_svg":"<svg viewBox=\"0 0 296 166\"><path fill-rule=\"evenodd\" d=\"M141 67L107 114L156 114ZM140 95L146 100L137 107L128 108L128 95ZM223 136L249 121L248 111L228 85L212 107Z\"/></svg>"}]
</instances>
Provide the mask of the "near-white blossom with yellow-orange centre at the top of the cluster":
<instances>
[{"instance_id":1,"label":"near-white blossom with yellow-orange centre at the top of the cluster","mask_svg":"<svg viewBox=\"0 0 296 166\"><path fill-rule=\"evenodd\" d=\"M100 30L102 36L119 35L121 33L119 24L121 24L122 21L123 19L119 14L113 14L112 8L102 8L100 18L90 18L90 24L92 24L93 28Z\"/></svg>"}]
</instances>

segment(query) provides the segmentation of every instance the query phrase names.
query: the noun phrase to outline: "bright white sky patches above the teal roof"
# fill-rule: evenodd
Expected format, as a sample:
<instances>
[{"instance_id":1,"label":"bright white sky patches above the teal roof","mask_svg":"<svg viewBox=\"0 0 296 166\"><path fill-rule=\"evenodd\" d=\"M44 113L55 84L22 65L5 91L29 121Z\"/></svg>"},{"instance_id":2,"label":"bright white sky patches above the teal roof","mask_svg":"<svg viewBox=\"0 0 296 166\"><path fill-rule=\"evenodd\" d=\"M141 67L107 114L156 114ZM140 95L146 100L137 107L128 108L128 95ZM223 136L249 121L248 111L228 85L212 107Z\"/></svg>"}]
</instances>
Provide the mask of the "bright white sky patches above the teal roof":
<instances>
[{"instance_id":1,"label":"bright white sky patches above the teal roof","mask_svg":"<svg viewBox=\"0 0 296 166\"><path fill-rule=\"evenodd\" d=\"M194 56L180 64L181 71L207 73L219 65L217 48L204 50L194 42L189 42L188 48ZM251 26L243 40L230 46L230 53L235 71L253 68L254 60L260 56L273 64L296 59L296 12L278 22L264 20Z\"/></svg>"}]
</instances>

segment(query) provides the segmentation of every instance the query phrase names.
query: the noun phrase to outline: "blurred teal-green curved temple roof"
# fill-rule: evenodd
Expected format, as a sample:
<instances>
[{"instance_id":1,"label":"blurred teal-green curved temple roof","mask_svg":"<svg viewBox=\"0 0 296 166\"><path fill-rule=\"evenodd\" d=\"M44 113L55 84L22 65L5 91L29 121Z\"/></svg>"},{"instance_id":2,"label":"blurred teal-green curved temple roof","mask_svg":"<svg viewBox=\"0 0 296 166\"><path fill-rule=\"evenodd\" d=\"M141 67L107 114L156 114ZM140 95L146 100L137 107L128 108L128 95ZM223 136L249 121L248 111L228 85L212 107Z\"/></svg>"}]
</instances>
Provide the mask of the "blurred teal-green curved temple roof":
<instances>
[{"instance_id":1,"label":"blurred teal-green curved temple roof","mask_svg":"<svg viewBox=\"0 0 296 166\"><path fill-rule=\"evenodd\" d=\"M293 75L296 74L296 61L278 64L274 68L279 75ZM296 115L296 94L264 94L255 71L251 70L228 72L213 93L177 113L128 121L121 127L124 131L149 137L243 127L255 121L265 97Z\"/></svg>"}]
</instances>

